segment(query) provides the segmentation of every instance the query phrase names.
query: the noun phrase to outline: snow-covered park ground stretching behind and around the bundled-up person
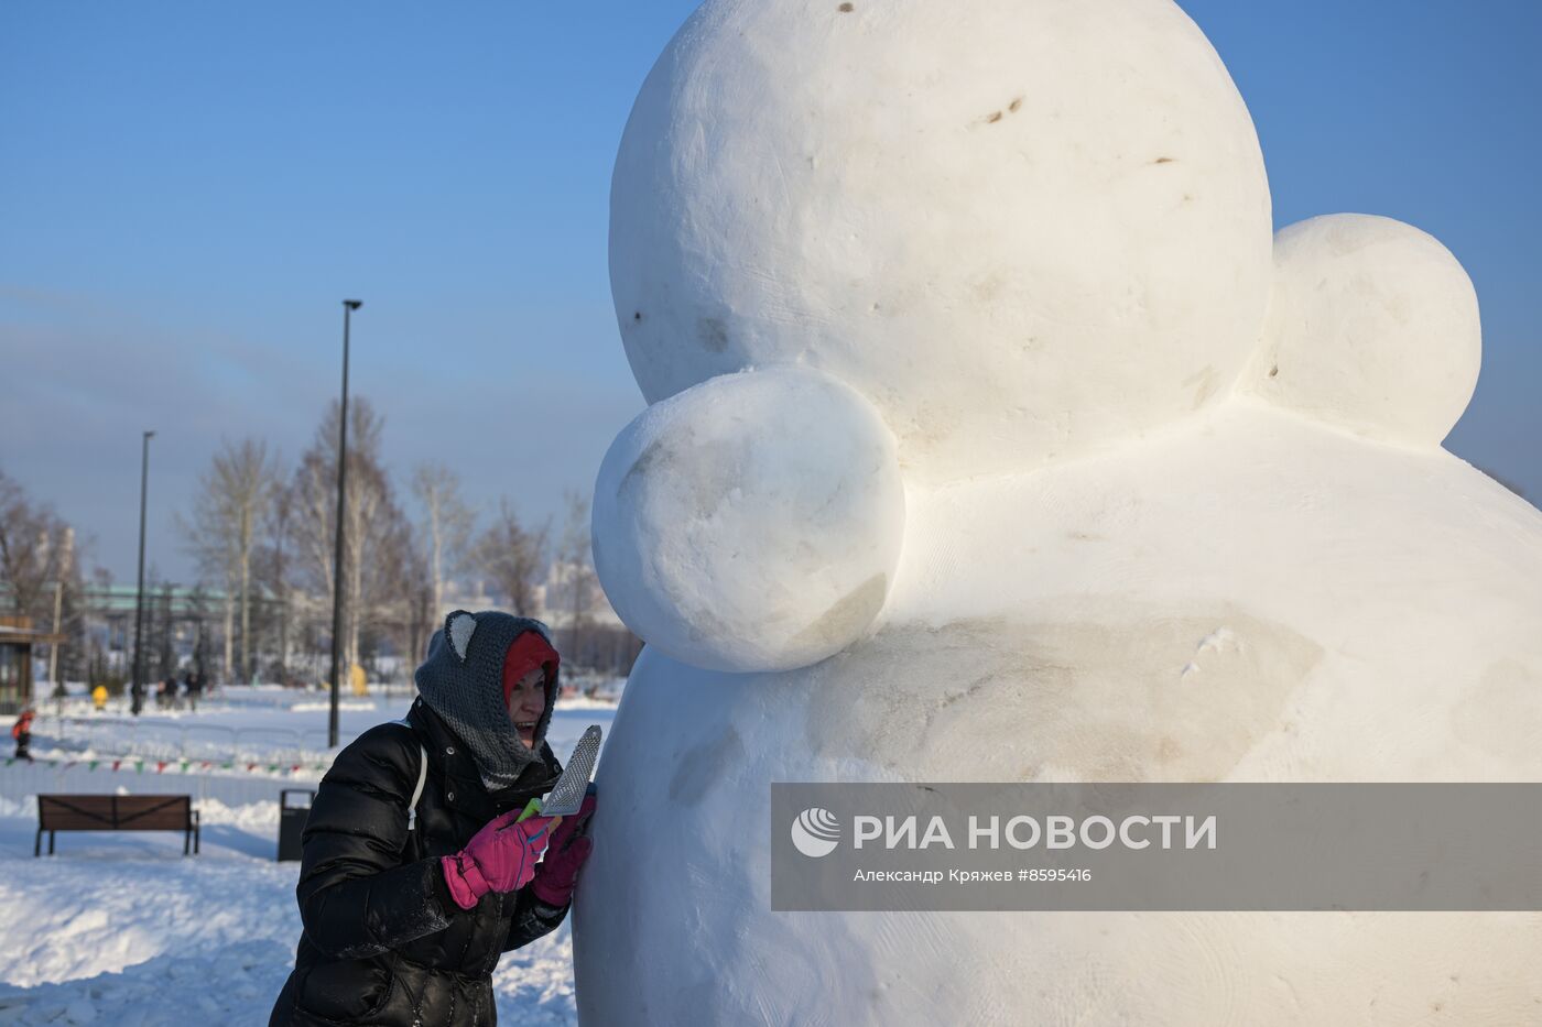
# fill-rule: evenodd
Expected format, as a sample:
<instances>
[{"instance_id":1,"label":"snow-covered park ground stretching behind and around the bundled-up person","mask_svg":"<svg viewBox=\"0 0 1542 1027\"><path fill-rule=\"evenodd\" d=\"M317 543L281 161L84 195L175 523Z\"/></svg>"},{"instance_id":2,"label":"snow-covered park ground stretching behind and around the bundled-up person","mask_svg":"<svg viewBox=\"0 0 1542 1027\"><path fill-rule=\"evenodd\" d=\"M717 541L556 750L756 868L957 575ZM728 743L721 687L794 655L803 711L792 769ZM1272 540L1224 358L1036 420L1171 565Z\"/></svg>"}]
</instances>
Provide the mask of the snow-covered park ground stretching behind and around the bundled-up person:
<instances>
[{"instance_id":1,"label":"snow-covered park ground stretching behind and around the bundled-up person","mask_svg":"<svg viewBox=\"0 0 1542 1027\"><path fill-rule=\"evenodd\" d=\"M406 699L350 700L344 736L395 720L406 706ZM609 729L612 714L604 703L560 703L552 746L566 759L588 725ZM139 745L142 753L151 722L204 728L208 737L248 732L253 746L262 729L279 753L291 737L325 728L325 705L282 691L241 694L197 714L145 717L130 729L134 737L97 731L88 748L68 728L54 737L40 723L37 753L48 759L0 768L0 1024L267 1022L301 933L298 864L274 862L279 790L313 786L319 769L268 769L274 760L248 771L194 753L193 773L179 773L176 753L167 753L120 756L114 771L109 751ZM39 791L191 794L204 851L183 857L171 833L65 833L56 856L34 859ZM577 1022L567 925L506 955L493 987L504 1022Z\"/></svg>"}]
</instances>

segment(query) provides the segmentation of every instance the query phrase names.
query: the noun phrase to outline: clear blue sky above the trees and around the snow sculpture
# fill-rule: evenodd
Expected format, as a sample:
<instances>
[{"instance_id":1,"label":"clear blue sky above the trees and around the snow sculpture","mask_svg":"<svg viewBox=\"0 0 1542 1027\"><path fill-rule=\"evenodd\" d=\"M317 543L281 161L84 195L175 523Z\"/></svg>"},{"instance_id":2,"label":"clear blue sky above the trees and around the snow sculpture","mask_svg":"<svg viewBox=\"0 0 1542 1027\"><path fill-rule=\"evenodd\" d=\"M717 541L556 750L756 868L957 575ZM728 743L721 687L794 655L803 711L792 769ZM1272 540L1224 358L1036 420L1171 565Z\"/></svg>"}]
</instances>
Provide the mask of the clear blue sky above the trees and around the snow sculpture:
<instances>
[{"instance_id":1,"label":"clear blue sky above the trees and around the snow sculpture","mask_svg":"<svg viewBox=\"0 0 1542 1027\"><path fill-rule=\"evenodd\" d=\"M638 410L606 278L611 163L694 0L0 5L0 467L134 574L221 436L293 460L336 395L387 458L532 518ZM1275 224L1399 217L1477 285L1448 447L1542 497L1542 3L1189 0L1263 142ZM1480 17L1479 17L1480 15Z\"/></svg>"}]
</instances>

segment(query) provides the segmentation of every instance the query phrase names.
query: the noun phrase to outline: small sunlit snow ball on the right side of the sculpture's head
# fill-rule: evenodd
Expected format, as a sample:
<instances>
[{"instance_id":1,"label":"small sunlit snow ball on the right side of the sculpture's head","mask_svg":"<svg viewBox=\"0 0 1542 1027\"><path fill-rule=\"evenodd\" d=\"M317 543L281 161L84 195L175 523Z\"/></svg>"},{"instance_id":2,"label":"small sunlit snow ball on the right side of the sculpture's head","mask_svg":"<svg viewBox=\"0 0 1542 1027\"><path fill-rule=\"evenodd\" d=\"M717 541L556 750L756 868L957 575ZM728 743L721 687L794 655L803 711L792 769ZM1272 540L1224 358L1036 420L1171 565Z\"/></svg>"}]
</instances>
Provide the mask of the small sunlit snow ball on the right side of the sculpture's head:
<instances>
[{"instance_id":1,"label":"small sunlit snow ball on the right side of the sculpture's head","mask_svg":"<svg viewBox=\"0 0 1542 1027\"><path fill-rule=\"evenodd\" d=\"M1274 264L1243 389L1362 435L1439 446L1482 355L1477 295L1456 258L1391 217L1328 214L1281 228Z\"/></svg>"}]
</instances>

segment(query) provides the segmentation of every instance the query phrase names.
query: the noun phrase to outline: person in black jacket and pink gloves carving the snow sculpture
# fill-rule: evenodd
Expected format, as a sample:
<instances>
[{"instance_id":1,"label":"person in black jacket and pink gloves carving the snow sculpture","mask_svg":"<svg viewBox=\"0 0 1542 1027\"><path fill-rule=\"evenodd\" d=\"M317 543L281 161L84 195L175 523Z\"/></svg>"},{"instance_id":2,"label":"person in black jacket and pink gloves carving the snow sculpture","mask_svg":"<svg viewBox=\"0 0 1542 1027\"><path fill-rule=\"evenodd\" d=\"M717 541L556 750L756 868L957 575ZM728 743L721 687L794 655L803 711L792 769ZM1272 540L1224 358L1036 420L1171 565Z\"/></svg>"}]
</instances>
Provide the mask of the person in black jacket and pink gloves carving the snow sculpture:
<instances>
[{"instance_id":1,"label":"person in black jacket and pink gloves carving the snow sculpture","mask_svg":"<svg viewBox=\"0 0 1542 1027\"><path fill-rule=\"evenodd\" d=\"M540 621L456 611L406 720L338 754L301 836L304 933L270 1027L497 1021L500 953L563 922L589 856L594 799L518 819L561 773L557 666Z\"/></svg>"}]
</instances>

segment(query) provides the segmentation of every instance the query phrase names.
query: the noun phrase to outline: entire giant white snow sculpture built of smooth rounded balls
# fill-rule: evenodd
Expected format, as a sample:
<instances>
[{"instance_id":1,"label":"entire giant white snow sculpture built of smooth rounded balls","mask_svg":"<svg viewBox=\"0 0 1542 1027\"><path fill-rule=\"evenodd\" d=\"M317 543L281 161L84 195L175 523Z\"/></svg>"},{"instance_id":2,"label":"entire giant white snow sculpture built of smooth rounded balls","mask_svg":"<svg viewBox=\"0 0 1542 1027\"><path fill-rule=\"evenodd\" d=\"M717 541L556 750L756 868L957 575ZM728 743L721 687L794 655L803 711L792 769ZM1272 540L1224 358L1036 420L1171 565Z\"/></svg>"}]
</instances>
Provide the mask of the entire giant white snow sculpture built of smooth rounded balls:
<instances>
[{"instance_id":1,"label":"entire giant white snow sculpture built of smooth rounded balls","mask_svg":"<svg viewBox=\"0 0 1542 1027\"><path fill-rule=\"evenodd\" d=\"M586 1019L1542 1008L1533 913L769 913L776 780L1542 780L1542 517L1439 447L1471 282L1383 217L1271 237L1173 3L708 0L611 281L652 406L594 541L649 645Z\"/></svg>"}]
</instances>

